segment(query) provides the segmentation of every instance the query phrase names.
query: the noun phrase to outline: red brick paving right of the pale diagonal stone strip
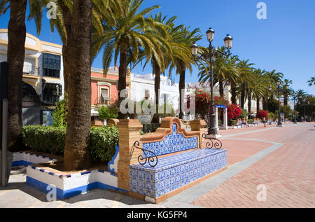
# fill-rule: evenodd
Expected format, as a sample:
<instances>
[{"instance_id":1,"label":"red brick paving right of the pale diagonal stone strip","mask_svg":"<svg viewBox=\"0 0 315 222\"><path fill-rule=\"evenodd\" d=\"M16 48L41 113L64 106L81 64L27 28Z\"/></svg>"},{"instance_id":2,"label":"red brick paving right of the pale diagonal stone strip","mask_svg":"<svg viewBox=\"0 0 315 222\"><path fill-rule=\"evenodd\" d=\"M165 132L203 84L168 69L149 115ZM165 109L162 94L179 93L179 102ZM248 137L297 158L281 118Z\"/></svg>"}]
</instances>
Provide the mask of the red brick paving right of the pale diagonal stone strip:
<instances>
[{"instance_id":1,"label":"red brick paving right of the pale diagonal stone strip","mask_svg":"<svg viewBox=\"0 0 315 222\"><path fill-rule=\"evenodd\" d=\"M314 135L314 124L300 123L237 136L237 139L261 139L284 145L192 204L201 207L315 207ZM233 138L236 139L230 137ZM225 140L224 144L233 141L237 143ZM246 142L246 148L251 148ZM230 145L229 149L232 150ZM260 184L267 188L266 201L256 198Z\"/></svg>"}]
</instances>

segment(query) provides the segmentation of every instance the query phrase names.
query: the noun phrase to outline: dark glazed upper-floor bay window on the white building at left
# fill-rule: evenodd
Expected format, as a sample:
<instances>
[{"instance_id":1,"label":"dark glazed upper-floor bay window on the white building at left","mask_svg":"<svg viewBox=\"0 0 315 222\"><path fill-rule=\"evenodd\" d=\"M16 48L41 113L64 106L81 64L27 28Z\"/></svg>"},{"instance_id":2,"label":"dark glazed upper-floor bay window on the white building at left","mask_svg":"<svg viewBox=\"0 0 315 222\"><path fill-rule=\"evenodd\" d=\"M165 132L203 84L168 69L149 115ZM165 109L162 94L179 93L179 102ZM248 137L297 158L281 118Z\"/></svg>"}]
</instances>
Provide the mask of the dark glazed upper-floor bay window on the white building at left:
<instances>
[{"instance_id":1,"label":"dark glazed upper-floor bay window on the white building at left","mask_svg":"<svg viewBox=\"0 0 315 222\"><path fill-rule=\"evenodd\" d=\"M43 76L60 78L61 56L43 53Z\"/></svg>"}]
</instances>

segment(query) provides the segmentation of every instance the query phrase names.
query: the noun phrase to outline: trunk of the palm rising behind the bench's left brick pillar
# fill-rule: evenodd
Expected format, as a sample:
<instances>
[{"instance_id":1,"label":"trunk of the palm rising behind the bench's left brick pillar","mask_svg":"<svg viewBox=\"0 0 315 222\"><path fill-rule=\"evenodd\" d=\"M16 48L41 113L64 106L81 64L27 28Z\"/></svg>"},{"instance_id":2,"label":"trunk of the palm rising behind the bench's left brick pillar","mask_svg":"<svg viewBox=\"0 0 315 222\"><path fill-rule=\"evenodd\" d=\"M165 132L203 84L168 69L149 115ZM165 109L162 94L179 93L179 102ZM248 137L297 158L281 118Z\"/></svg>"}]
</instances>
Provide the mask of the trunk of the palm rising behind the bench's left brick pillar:
<instances>
[{"instance_id":1,"label":"trunk of the palm rising behind the bench's left brick pillar","mask_svg":"<svg viewBox=\"0 0 315 222\"><path fill-rule=\"evenodd\" d=\"M118 100L119 103L123 101L124 98L120 98L120 92L126 89L126 78L127 78L127 49L128 44L125 42L120 43L120 64L119 64L119 78L118 78ZM118 112L118 119L125 119L126 114Z\"/></svg>"}]
</instances>

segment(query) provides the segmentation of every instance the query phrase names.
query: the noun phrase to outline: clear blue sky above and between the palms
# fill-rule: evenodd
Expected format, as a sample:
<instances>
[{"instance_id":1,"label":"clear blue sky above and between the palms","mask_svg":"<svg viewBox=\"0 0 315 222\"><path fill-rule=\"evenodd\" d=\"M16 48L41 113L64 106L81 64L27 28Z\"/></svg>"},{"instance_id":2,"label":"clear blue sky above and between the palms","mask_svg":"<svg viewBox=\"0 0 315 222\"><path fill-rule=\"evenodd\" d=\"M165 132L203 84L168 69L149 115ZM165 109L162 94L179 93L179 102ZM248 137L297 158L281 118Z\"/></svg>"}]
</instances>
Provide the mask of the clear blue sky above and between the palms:
<instances>
[{"instance_id":1,"label":"clear blue sky above and between the palms","mask_svg":"<svg viewBox=\"0 0 315 222\"><path fill-rule=\"evenodd\" d=\"M145 0L144 7L160 5L153 12L169 17L176 15L176 24L200 28L204 34L212 27L216 34L214 46L223 46L226 34L233 36L232 53L241 59L249 59L256 68L276 69L293 81L294 90L305 90L315 95L315 87L307 81L315 76L315 1L314 0L265 0L267 19L258 20L257 4L262 0ZM0 28L7 28L9 12L0 18ZM36 34L33 21L27 21L27 32ZM57 32L51 33L47 18L43 16L43 28L39 39L61 44ZM197 42L207 46L207 38ZM92 67L102 68L102 55ZM136 67L135 74L148 74L151 67ZM186 74L186 82L197 82L197 69ZM179 77L176 76L176 82Z\"/></svg>"}]
</instances>

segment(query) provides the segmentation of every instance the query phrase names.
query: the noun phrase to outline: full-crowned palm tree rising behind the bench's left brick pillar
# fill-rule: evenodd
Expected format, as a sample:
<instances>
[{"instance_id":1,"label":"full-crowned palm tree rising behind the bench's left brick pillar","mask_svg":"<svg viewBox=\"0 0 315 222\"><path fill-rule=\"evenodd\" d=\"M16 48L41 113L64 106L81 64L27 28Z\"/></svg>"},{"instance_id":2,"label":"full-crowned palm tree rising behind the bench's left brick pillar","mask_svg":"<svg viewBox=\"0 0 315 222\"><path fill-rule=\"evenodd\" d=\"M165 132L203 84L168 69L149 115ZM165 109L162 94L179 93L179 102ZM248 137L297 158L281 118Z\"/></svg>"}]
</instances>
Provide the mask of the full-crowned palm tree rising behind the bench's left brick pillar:
<instances>
[{"instance_id":1,"label":"full-crowned palm tree rising behind the bench's left brick pillar","mask_svg":"<svg viewBox=\"0 0 315 222\"><path fill-rule=\"evenodd\" d=\"M119 64L119 79L118 79L118 98L121 102L120 92L126 89L127 65L128 56L130 55L131 62L137 62L140 50L150 57L152 53L158 55L158 42L153 34L145 32L148 27L154 27L155 22L146 17L153 9L160 6L152 6L145 8L139 12L144 0L125 0L121 2L123 14L116 15L115 24L103 24L104 32L93 32L92 34L92 58L104 48L103 67L104 74L109 69L111 62L117 63L118 56L120 57ZM157 56L158 57L158 56ZM161 61L158 60L161 64ZM123 113L118 113L118 118L125 118Z\"/></svg>"}]
</instances>

